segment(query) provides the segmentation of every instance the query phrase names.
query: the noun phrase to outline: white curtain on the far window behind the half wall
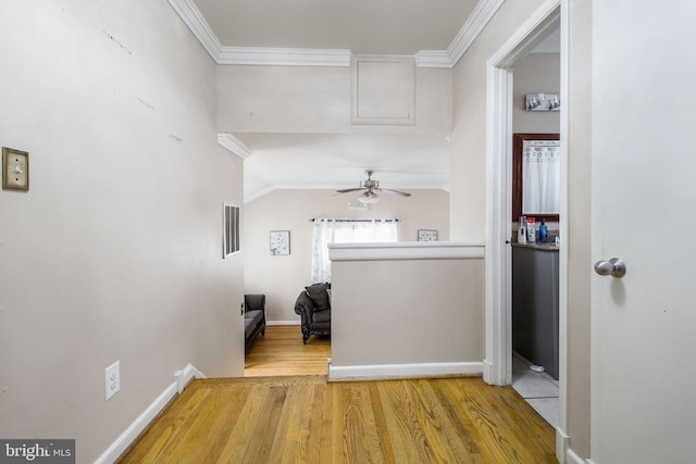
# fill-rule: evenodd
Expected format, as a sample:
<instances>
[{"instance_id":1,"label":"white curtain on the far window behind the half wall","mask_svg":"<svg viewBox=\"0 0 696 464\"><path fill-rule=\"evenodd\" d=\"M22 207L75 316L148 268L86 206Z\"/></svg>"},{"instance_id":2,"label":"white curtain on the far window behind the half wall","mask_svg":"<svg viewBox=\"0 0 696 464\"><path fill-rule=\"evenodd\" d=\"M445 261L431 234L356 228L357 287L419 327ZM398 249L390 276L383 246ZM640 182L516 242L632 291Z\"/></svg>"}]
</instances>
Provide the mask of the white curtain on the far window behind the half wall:
<instances>
[{"instance_id":1,"label":"white curtain on the far window behind the half wall","mask_svg":"<svg viewBox=\"0 0 696 464\"><path fill-rule=\"evenodd\" d=\"M396 220L314 220L312 284L331 281L328 243L397 241Z\"/></svg>"}]
</instances>

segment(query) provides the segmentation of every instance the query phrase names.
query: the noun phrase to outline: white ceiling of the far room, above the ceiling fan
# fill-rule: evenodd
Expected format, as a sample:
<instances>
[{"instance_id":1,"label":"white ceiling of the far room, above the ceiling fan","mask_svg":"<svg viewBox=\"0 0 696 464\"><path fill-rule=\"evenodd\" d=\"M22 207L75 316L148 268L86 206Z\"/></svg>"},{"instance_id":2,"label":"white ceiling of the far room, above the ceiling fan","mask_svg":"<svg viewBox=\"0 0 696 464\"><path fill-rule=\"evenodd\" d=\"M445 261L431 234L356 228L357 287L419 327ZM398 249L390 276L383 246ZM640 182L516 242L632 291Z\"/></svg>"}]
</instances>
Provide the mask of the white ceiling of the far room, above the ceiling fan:
<instances>
[{"instance_id":1,"label":"white ceiling of the far room, above the ceiling fan","mask_svg":"<svg viewBox=\"0 0 696 464\"><path fill-rule=\"evenodd\" d=\"M350 188L364 170L384 188L444 188L449 178L444 137L421 134L244 134L245 200L278 188Z\"/></svg>"}]
</instances>

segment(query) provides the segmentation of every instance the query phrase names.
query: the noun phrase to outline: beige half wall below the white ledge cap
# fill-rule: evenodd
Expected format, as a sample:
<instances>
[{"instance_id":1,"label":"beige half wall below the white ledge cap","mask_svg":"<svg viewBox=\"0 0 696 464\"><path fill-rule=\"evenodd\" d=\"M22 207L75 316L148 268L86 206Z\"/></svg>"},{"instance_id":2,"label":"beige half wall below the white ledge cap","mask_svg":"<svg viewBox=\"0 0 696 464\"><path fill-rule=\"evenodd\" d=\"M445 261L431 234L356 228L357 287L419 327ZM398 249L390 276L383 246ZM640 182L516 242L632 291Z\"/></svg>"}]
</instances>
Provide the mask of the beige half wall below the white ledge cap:
<instances>
[{"instance_id":1,"label":"beige half wall below the white ledge cap","mask_svg":"<svg viewBox=\"0 0 696 464\"><path fill-rule=\"evenodd\" d=\"M339 260L333 273L332 374L408 376L395 364L433 375L455 364L460 374L481 374L482 256Z\"/></svg>"}]
</instances>

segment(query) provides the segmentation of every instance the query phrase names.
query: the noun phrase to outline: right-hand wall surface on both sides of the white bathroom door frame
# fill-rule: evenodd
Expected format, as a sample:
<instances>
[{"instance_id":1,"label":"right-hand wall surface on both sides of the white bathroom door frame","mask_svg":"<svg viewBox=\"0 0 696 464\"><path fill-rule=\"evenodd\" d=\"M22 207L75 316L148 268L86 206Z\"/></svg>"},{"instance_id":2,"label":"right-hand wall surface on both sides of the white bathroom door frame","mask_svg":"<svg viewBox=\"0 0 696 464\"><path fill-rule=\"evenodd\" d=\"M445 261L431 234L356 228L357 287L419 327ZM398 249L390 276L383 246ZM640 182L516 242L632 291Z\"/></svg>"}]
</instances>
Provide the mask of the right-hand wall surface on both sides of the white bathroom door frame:
<instances>
[{"instance_id":1,"label":"right-hand wall surface on both sides of the white bathroom door frame","mask_svg":"<svg viewBox=\"0 0 696 464\"><path fill-rule=\"evenodd\" d=\"M486 150L486 62L509 37L544 3L505 2L453 70L453 113L450 163L450 238L483 240L485 222ZM589 331L586 239L572 236L586 229L588 217L588 160L591 100L589 41L592 5L568 2L571 9L571 101L569 140L569 352L568 428L571 447L579 455L589 456ZM577 224L582 224L579 228ZM563 329L563 328L561 328Z\"/></svg>"}]
</instances>

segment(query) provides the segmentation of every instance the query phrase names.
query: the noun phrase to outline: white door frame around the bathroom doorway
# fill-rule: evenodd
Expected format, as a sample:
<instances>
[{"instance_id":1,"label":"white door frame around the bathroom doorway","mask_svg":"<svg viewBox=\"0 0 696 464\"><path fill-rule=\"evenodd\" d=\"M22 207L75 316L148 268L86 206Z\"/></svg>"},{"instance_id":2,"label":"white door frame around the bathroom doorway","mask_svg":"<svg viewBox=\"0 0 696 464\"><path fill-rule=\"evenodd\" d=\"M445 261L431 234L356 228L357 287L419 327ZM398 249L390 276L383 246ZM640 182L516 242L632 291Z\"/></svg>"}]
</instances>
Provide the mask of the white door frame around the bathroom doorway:
<instances>
[{"instance_id":1,"label":"white door frame around the bathroom doorway","mask_svg":"<svg viewBox=\"0 0 696 464\"><path fill-rule=\"evenodd\" d=\"M486 63L486 254L484 380L512 381L512 108L513 64L526 55L550 28L560 25L560 142L568 153L569 0L547 0ZM561 158L560 234L568 237L568 156ZM567 421L568 246L559 250L559 425L557 457L566 462L570 437Z\"/></svg>"}]
</instances>

